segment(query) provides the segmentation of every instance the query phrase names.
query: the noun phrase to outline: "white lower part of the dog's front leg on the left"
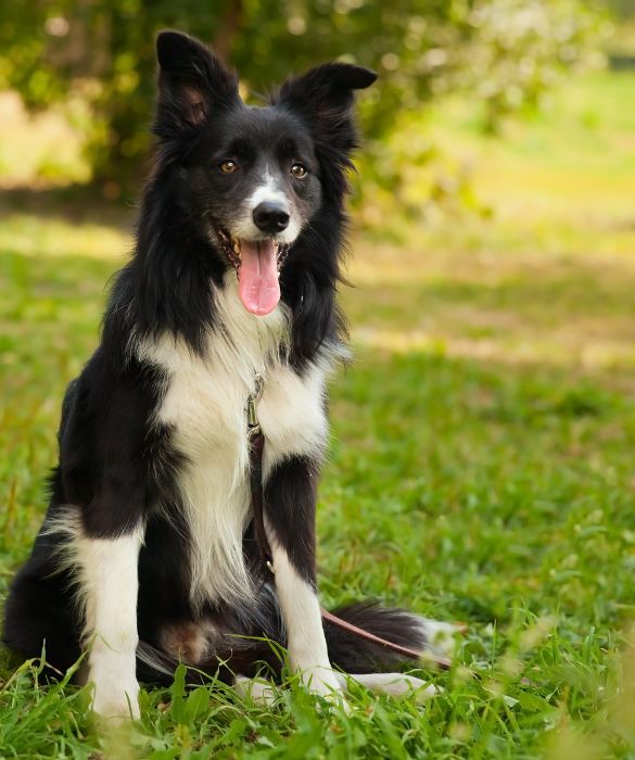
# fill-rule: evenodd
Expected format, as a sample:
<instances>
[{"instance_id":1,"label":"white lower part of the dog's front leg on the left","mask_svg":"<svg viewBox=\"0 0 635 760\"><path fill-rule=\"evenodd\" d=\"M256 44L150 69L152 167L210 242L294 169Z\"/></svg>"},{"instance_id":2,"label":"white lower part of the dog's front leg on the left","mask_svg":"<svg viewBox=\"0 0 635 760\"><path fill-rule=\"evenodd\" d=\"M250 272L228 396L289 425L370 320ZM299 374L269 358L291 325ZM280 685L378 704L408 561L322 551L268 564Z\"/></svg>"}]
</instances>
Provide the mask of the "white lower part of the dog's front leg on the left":
<instances>
[{"instance_id":1,"label":"white lower part of the dog's front leg on the left","mask_svg":"<svg viewBox=\"0 0 635 760\"><path fill-rule=\"evenodd\" d=\"M103 718L139 718L136 674L138 559L143 531L79 540L81 600L89 646L92 709Z\"/></svg>"}]
</instances>

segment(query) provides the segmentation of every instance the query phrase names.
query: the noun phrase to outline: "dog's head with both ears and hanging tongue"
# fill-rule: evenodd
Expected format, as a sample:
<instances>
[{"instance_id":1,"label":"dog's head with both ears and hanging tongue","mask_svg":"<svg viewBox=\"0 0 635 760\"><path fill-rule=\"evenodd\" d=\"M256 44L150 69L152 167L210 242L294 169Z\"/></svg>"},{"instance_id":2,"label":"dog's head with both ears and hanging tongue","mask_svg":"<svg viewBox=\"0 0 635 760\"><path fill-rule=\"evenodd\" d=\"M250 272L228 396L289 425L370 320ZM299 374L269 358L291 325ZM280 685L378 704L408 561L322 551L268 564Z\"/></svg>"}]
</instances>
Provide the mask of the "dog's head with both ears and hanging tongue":
<instances>
[{"instance_id":1,"label":"dog's head with both ears and hanging tongue","mask_svg":"<svg viewBox=\"0 0 635 760\"><path fill-rule=\"evenodd\" d=\"M236 74L198 40L163 31L156 48L160 156L216 255L236 269L245 308L268 314L294 242L322 204L342 202L356 147L353 91L376 74L325 64L253 107L242 102Z\"/></svg>"}]
</instances>

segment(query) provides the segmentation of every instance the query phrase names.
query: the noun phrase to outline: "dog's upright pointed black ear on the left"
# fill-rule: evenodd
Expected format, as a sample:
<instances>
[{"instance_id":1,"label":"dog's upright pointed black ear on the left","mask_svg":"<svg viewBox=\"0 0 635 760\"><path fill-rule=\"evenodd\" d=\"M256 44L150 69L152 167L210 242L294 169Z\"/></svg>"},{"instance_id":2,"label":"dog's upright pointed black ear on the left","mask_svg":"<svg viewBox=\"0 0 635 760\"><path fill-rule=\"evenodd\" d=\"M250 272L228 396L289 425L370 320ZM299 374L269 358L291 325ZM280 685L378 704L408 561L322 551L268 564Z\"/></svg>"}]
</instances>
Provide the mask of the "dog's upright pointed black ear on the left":
<instances>
[{"instance_id":1,"label":"dog's upright pointed black ear on the left","mask_svg":"<svg viewBox=\"0 0 635 760\"><path fill-rule=\"evenodd\" d=\"M180 31L160 31L158 101L154 131L174 137L202 124L213 109L239 100L238 77L193 37Z\"/></svg>"}]
</instances>

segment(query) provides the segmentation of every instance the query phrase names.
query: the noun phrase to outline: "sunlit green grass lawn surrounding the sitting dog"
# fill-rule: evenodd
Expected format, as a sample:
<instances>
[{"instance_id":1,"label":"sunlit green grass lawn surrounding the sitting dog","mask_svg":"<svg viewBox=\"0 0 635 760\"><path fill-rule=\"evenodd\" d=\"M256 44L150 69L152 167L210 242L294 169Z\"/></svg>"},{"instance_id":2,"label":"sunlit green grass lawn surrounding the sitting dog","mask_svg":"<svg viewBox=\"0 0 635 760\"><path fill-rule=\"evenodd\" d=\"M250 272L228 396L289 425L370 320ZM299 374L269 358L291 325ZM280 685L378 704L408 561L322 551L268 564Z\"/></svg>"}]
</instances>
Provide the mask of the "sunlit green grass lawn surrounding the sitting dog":
<instances>
[{"instance_id":1,"label":"sunlit green grass lawn surrounding the sitting dog","mask_svg":"<svg viewBox=\"0 0 635 760\"><path fill-rule=\"evenodd\" d=\"M143 695L132 730L103 735L86 691L2 650L0 757L635 758L634 85L571 83L497 143L444 104L430 129L472 163L495 218L355 241L322 596L467 622L450 672L420 673L444 691L423 706L357 689L345 714L293 679L275 708L177 679ZM1 590L129 248L89 217L13 210L0 228Z\"/></svg>"}]
</instances>

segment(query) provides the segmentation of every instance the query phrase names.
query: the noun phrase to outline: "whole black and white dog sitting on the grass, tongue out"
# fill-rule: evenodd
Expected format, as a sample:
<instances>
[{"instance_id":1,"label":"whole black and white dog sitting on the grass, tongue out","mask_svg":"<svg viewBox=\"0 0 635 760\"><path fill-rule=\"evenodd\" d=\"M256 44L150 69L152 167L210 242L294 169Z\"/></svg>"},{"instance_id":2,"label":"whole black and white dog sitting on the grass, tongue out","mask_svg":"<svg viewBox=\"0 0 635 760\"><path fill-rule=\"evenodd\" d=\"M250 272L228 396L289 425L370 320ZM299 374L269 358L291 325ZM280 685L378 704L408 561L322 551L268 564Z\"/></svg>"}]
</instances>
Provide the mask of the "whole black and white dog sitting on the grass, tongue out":
<instances>
[{"instance_id":1,"label":"whole black and white dog sitting on the grass, tongue out","mask_svg":"<svg viewBox=\"0 0 635 760\"><path fill-rule=\"evenodd\" d=\"M263 637L325 695L345 688L331 663L401 661L322 623L315 570L353 93L376 75L326 64L250 107L199 41L165 31L157 54L157 157L136 251L66 393L49 509L4 622L12 649L45 646L58 671L88 648L105 717L138 715L138 679L165 682L179 660L242 686L262 661L279 669ZM258 378L275 582L250 510L245 402ZM340 616L410 647L441 626L371 605Z\"/></svg>"}]
</instances>

